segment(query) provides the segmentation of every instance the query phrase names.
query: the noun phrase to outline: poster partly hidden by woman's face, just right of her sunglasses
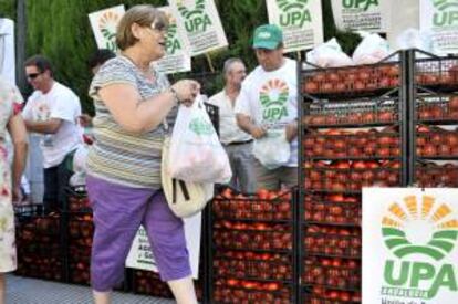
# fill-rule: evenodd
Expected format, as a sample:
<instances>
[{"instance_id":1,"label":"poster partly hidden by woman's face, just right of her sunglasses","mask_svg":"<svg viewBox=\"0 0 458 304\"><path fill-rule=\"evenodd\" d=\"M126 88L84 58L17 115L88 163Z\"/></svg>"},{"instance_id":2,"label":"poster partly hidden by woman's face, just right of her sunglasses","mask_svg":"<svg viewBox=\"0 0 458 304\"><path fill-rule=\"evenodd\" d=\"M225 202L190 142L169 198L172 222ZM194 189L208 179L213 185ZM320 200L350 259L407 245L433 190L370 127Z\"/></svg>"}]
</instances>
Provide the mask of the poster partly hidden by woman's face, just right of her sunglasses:
<instances>
[{"instance_id":1,"label":"poster partly hidden by woman's face, just right of her sunglasses","mask_svg":"<svg viewBox=\"0 0 458 304\"><path fill-rule=\"evenodd\" d=\"M165 74L187 72L191 70L191 61L186 52L184 38L177 30L177 21L169 7L158 8L168 19L168 31L166 40L166 55L154 63L157 71Z\"/></svg>"}]
</instances>

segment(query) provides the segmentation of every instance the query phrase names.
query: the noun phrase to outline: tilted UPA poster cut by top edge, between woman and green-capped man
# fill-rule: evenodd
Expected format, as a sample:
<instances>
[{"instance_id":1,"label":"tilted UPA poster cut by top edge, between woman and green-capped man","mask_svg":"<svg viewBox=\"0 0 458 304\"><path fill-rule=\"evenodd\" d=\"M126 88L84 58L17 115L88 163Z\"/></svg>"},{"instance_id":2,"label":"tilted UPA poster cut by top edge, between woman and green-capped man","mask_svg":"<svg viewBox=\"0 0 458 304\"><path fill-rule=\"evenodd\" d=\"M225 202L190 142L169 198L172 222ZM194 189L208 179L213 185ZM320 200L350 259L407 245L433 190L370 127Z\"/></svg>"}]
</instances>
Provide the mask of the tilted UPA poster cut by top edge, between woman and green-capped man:
<instances>
[{"instance_id":1,"label":"tilted UPA poster cut by top edge, between woman and green-capped man","mask_svg":"<svg viewBox=\"0 0 458 304\"><path fill-rule=\"evenodd\" d=\"M168 0L168 3L191 56L228 45L214 0Z\"/></svg>"}]
</instances>

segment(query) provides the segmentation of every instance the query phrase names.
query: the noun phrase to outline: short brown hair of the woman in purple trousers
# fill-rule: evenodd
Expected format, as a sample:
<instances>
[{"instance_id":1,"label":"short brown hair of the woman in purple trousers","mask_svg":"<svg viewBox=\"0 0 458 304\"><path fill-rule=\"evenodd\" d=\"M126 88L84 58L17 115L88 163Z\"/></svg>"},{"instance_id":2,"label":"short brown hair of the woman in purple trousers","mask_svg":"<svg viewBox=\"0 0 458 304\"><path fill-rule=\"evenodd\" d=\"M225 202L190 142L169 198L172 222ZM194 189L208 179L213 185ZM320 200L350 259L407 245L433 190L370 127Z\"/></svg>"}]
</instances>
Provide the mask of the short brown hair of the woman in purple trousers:
<instances>
[{"instance_id":1,"label":"short brown hair of the woman in purple trousers","mask_svg":"<svg viewBox=\"0 0 458 304\"><path fill-rule=\"evenodd\" d=\"M139 4L128 9L117 24L117 48L125 50L138 41L132 32L132 24L137 23L140 27L150 27L153 22L163 22L165 25L168 25L166 14L150 4Z\"/></svg>"}]
</instances>

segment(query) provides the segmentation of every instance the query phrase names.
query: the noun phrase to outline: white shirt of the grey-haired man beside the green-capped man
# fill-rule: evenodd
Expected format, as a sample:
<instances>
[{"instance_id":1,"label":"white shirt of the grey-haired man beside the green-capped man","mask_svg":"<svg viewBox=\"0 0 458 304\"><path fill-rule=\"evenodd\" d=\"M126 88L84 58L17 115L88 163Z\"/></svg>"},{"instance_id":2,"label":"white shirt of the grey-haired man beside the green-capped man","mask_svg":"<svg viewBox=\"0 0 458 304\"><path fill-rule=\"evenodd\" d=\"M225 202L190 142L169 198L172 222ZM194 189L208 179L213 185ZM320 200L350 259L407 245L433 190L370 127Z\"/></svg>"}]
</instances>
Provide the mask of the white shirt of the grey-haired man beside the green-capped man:
<instances>
[{"instance_id":1,"label":"white shirt of the grey-haired man beside the green-capped man","mask_svg":"<svg viewBox=\"0 0 458 304\"><path fill-rule=\"evenodd\" d=\"M237 125L232 102L225 90L215 94L208 103L219 109L219 138L222 144L250 140L252 137Z\"/></svg>"}]
</instances>

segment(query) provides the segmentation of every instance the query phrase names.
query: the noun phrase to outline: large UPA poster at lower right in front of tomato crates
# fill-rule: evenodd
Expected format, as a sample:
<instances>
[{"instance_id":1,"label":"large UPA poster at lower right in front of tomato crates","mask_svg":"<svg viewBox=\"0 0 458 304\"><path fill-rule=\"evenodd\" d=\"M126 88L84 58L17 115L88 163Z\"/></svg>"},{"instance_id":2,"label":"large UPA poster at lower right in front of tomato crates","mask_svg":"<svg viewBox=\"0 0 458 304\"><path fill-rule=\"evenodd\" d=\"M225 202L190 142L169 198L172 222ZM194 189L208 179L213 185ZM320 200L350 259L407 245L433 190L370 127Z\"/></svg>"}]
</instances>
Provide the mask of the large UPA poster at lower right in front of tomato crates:
<instances>
[{"instance_id":1,"label":"large UPA poster at lower right in front of tomato crates","mask_svg":"<svg viewBox=\"0 0 458 304\"><path fill-rule=\"evenodd\" d=\"M363 303L458 303L458 189L363 189Z\"/></svg>"}]
</instances>

